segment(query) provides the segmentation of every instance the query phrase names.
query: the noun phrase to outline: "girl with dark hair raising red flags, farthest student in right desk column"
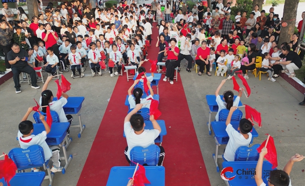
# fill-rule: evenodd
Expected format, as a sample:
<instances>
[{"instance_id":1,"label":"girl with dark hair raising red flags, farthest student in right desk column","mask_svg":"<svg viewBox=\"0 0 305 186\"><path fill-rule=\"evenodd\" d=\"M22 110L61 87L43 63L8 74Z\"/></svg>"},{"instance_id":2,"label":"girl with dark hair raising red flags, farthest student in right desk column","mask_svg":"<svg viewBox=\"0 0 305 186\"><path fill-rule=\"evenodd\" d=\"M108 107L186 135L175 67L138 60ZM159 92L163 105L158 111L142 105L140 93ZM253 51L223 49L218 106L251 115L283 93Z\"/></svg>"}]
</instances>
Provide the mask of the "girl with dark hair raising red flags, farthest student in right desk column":
<instances>
[{"instance_id":1,"label":"girl with dark hair raising red flags, farthest student in right desk column","mask_svg":"<svg viewBox=\"0 0 305 186\"><path fill-rule=\"evenodd\" d=\"M219 111L221 111L222 109L228 109L230 110L230 108L232 106L238 106L238 103L239 103L239 100L241 98L241 95L242 95L242 91L243 91L243 88L240 88L239 89L239 92L238 92L238 96L235 98L234 100L234 94L231 90L228 90L228 91L225 91L224 94L223 94L223 100L220 98L219 96L219 91L221 89L221 87L225 84L226 80L222 80L222 82L220 83L220 85L218 86L216 92L215 92L215 96L216 96L216 102L217 102L217 105L218 105L218 112L216 114L216 117L215 117L215 120L218 121L218 115L219 115Z\"/></svg>"}]
</instances>

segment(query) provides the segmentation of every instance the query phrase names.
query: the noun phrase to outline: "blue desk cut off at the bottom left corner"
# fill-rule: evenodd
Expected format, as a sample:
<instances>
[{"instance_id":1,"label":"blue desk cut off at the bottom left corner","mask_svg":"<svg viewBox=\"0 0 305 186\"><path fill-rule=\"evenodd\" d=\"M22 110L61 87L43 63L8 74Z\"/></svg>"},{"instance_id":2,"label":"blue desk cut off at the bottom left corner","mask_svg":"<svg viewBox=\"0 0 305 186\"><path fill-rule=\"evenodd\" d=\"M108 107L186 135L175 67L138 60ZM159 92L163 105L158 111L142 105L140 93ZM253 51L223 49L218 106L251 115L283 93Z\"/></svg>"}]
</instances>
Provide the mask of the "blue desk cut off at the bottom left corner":
<instances>
[{"instance_id":1,"label":"blue desk cut off at the bottom left corner","mask_svg":"<svg viewBox=\"0 0 305 186\"><path fill-rule=\"evenodd\" d=\"M10 184L12 186L22 185L22 186L40 186L46 176L45 172L23 172L16 173L11 179ZM4 181L4 178L0 179L0 182L4 186L8 184Z\"/></svg>"}]
</instances>

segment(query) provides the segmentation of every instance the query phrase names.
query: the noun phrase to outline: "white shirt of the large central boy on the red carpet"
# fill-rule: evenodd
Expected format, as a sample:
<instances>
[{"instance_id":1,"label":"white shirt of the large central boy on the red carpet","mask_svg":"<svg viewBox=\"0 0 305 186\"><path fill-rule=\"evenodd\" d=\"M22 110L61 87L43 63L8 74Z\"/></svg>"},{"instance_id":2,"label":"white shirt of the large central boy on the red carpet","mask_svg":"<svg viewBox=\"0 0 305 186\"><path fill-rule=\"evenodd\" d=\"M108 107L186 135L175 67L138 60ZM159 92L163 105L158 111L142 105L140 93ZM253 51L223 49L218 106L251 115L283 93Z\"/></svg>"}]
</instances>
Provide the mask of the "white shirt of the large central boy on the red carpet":
<instances>
[{"instance_id":1,"label":"white shirt of the large central boy on the red carpet","mask_svg":"<svg viewBox=\"0 0 305 186\"><path fill-rule=\"evenodd\" d=\"M130 150L135 146L143 148L155 144L155 139L159 136L160 132L157 129L145 129L141 134L136 134L131 127L130 122L124 123L124 133L128 145L127 157L130 160Z\"/></svg>"}]
</instances>

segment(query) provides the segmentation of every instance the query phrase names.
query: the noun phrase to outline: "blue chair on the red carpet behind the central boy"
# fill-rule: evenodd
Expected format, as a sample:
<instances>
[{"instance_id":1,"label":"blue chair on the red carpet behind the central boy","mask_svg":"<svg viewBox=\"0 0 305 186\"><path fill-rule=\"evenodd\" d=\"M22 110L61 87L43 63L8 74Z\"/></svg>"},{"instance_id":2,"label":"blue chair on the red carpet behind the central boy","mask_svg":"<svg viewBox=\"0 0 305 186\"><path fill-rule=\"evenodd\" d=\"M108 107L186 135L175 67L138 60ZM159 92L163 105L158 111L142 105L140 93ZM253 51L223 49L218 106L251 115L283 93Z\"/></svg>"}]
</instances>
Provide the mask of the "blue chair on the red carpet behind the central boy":
<instances>
[{"instance_id":1,"label":"blue chair on the red carpet behind the central boy","mask_svg":"<svg viewBox=\"0 0 305 186\"><path fill-rule=\"evenodd\" d=\"M130 166L147 164L150 166L157 166L159 163L160 148L158 145L149 145L146 148L136 146L130 151ZM136 164L134 164L135 162Z\"/></svg>"}]
</instances>

